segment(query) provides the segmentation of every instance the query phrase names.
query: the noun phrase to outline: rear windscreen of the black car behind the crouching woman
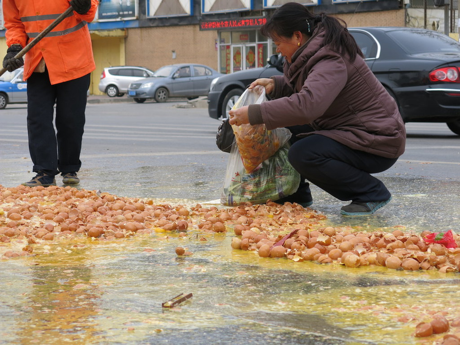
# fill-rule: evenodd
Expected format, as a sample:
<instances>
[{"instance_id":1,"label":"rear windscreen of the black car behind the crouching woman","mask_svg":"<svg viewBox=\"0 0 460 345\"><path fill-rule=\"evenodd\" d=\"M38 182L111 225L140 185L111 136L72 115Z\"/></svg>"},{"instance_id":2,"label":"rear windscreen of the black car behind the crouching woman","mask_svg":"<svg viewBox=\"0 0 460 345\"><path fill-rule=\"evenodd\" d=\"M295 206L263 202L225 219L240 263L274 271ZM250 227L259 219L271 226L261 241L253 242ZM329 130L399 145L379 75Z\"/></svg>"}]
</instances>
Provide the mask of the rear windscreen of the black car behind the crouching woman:
<instances>
[{"instance_id":1,"label":"rear windscreen of the black car behind the crouching woman","mask_svg":"<svg viewBox=\"0 0 460 345\"><path fill-rule=\"evenodd\" d=\"M387 34L408 54L460 52L457 41L432 30L394 30Z\"/></svg>"}]
</instances>

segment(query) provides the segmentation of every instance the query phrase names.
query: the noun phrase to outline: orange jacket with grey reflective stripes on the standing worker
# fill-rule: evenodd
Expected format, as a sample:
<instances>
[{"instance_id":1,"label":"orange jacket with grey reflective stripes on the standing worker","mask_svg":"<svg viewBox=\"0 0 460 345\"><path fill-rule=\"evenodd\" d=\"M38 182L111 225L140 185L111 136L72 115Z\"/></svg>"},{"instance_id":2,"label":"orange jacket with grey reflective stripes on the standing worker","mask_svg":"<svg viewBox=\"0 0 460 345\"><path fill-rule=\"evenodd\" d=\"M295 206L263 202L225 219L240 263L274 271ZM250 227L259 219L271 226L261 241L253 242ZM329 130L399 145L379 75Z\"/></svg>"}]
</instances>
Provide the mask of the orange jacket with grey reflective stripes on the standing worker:
<instances>
[{"instance_id":1,"label":"orange jacket with grey reflective stripes on the standing worker","mask_svg":"<svg viewBox=\"0 0 460 345\"><path fill-rule=\"evenodd\" d=\"M69 0L2 0L6 44L25 47L69 8ZM91 0L84 15L76 12L65 18L24 58L24 79L45 60L51 84L82 77L95 69L90 31L87 23L94 19L98 0Z\"/></svg>"}]
</instances>

